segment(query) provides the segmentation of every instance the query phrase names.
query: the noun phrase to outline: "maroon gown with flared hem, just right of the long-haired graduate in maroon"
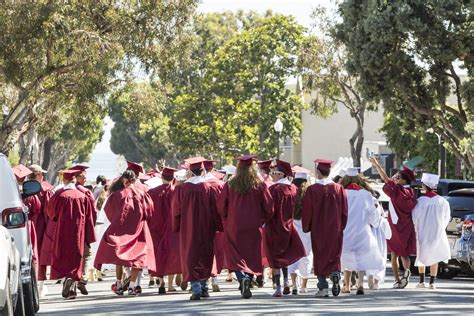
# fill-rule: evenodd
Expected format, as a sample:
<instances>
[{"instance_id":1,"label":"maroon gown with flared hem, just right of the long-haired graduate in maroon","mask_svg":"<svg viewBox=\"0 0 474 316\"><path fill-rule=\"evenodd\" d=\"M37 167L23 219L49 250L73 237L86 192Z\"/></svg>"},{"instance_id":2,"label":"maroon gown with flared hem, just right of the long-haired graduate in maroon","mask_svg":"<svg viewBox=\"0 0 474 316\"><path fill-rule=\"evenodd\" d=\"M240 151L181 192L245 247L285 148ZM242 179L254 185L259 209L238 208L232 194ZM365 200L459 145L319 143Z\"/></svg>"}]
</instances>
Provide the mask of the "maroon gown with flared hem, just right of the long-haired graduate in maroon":
<instances>
[{"instance_id":1,"label":"maroon gown with flared hem, just right of the long-haired graduate in maroon","mask_svg":"<svg viewBox=\"0 0 474 316\"><path fill-rule=\"evenodd\" d=\"M293 225L296 186L275 183L270 187L274 215L265 225L265 250L271 268L286 268L306 256L303 243Z\"/></svg>"}]
</instances>

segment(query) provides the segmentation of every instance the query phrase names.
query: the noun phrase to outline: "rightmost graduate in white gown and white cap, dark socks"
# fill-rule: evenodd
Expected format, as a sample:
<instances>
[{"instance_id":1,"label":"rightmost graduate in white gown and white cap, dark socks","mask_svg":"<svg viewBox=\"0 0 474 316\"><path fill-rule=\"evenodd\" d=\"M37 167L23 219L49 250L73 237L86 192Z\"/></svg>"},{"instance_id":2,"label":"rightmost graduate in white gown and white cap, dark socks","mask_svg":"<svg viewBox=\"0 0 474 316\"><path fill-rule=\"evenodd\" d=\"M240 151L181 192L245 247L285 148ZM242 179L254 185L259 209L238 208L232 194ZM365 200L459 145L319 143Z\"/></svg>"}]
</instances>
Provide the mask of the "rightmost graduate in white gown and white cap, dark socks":
<instances>
[{"instance_id":1,"label":"rightmost graduate in white gown and white cap, dark socks","mask_svg":"<svg viewBox=\"0 0 474 316\"><path fill-rule=\"evenodd\" d=\"M436 193L439 176L424 173L421 177L424 194L418 198L413 210L413 224L416 232L415 266L420 273L417 288L425 288L425 270L430 267L429 288L436 289L435 279L438 274L438 263L451 259L446 227L451 218L448 201Z\"/></svg>"}]
</instances>

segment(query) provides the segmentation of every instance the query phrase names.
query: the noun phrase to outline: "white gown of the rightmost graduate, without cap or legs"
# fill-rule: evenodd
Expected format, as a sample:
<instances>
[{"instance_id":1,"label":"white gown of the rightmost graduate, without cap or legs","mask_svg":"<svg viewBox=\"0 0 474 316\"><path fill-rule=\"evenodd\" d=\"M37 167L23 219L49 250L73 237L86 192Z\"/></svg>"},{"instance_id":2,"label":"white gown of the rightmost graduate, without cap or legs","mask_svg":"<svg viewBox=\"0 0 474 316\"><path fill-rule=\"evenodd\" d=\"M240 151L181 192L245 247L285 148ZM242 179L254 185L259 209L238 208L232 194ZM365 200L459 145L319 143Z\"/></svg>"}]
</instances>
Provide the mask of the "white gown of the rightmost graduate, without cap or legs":
<instances>
[{"instance_id":1,"label":"white gown of the rightmost graduate, without cap or legs","mask_svg":"<svg viewBox=\"0 0 474 316\"><path fill-rule=\"evenodd\" d=\"M412 212L416 232L415 266L431 266L451 259L446 227L451 211L445 198L422 196Z\"/></svg>"}]
</instances>

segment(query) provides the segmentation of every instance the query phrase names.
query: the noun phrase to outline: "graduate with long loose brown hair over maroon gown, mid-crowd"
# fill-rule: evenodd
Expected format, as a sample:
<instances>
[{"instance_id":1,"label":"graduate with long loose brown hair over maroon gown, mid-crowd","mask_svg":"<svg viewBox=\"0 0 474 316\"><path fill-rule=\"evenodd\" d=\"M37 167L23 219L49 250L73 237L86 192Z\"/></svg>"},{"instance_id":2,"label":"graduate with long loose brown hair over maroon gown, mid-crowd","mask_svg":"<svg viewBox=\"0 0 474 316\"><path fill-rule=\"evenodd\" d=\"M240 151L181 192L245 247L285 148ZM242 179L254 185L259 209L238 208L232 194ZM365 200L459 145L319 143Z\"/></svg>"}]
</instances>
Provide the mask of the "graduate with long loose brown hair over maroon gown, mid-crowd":
<instances>
[{"instance_id":1,"label":"graduate with long loose brown hair over maroon gown, mid-crowd","mask_svg":"<svg viewBox=\"0 0 474 316\"><path fill-rule=\"evenodd\" d=\"M258 176L255 157L238 158L236 174L224 185L217 204L228 268L235 272L243 298L252 297L251 275L263 273L262 226L273 216L272 197Z\"/></svg>"}]
</instances>

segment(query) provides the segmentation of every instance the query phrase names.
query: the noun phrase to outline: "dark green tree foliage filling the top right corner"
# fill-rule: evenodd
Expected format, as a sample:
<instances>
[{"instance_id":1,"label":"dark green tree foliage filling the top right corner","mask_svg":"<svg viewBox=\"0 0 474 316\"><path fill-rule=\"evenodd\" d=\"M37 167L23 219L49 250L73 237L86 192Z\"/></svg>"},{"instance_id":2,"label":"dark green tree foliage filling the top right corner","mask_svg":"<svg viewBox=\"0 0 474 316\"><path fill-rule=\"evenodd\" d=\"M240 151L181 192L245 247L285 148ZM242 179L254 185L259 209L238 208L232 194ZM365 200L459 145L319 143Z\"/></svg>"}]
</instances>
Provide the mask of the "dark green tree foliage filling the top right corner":
<instances>
[{"instance_id":1,"label":"dark green tree foliage filling the top right corner","mask_svg":"<svg viewBox=\"0 0 474 316\"><path fill-rule=\"evenodd\" d=\"M473 172L469 2L346 0L339 9L337 37L349 51L348 67L359 76L364 96L411 121L414 134L432 127Z\"/></svg>"}]
</instances>

